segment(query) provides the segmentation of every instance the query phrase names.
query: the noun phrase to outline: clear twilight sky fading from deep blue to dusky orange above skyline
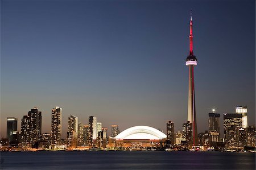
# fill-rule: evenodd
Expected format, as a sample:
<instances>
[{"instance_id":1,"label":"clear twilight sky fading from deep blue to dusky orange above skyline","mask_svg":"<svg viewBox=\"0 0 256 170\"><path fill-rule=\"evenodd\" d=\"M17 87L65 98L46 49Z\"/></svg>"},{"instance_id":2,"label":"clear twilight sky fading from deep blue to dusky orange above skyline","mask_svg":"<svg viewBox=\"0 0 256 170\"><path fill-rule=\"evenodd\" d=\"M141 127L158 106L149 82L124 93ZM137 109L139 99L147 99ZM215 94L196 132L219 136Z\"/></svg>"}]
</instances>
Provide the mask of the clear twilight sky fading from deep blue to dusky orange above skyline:
<instances>
[{"instance_id":1,"label":"clear twilight sky fading from deep blue to dusky orange above skyline","mask_svg":"<svg viewBox=\"0 0 256 170\"><path fill-rule=\"evenodd\" d=\"M1 137L7 117L63 108L87 124L181 130L187 121L189 13L193 10L196 114L247 105L255 125L255 1L1 1Z\"/></svg>"}]
</instances>

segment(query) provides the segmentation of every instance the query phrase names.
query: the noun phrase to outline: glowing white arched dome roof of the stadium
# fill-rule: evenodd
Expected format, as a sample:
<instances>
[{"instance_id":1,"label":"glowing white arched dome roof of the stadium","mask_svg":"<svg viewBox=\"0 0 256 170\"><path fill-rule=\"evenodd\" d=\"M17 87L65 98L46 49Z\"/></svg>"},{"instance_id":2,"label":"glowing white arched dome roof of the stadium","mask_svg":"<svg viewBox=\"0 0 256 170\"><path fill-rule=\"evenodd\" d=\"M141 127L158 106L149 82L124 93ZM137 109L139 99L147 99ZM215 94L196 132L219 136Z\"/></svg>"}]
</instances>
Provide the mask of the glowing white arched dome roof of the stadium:
<instances>
[{"instance_id":1,"label":"glowing white arched dome roof of the stadium","mask_svg":"<svg viewBox=\"0 0 256 170\"><path fill-rule=\"evenodd\" d=\"M149 126L134 126L127 128L120 134L115 136L115 139L150 139L150 140L162 140L166 138L166 134L157 130L156 128Z\"/></svg>"}]
</instances>

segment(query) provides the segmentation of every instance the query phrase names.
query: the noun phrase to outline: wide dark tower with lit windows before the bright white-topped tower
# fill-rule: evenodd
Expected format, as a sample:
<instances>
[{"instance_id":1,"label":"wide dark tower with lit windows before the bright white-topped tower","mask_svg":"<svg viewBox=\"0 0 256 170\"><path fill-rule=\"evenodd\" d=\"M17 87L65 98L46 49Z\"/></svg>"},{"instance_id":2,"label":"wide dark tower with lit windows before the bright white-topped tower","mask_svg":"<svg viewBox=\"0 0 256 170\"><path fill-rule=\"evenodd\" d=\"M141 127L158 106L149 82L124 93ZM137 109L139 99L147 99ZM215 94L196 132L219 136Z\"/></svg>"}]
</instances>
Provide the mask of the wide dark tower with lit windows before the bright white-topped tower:
<instances>
[{"instance_id":1,"label":"wide dark tower with lit windows before the bright white-topped tower","mask_svg":"<svg viewBox=\"0 0 256 170\"><path fill-rule=\"evenodd\" d=\"M242 127L242 114L224 114L224 139L226 148L239 148L239 129Z\"/></svg>"}]
</instances>

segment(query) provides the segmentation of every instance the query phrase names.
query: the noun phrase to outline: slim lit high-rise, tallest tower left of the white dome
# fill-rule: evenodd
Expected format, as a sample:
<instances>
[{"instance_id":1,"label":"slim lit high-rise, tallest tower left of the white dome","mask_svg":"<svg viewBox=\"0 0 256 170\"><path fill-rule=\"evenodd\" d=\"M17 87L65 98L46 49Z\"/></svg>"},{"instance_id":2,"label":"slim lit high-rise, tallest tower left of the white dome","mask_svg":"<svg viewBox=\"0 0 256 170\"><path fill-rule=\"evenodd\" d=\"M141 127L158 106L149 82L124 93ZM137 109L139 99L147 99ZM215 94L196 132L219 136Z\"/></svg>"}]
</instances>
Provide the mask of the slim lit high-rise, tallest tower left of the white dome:
<instances>
[{"instance_id":1,"label":"slim lit high-rise, tallest tower left of the white dome","mask_svg":"<svg viewBox=\"0 0 256 170\"><path fill-rule=\"evenodd\" d=\"M51 146L56 150L60 146L62 109L58 106L52 109Z\"/></svg>"}]
</instances>

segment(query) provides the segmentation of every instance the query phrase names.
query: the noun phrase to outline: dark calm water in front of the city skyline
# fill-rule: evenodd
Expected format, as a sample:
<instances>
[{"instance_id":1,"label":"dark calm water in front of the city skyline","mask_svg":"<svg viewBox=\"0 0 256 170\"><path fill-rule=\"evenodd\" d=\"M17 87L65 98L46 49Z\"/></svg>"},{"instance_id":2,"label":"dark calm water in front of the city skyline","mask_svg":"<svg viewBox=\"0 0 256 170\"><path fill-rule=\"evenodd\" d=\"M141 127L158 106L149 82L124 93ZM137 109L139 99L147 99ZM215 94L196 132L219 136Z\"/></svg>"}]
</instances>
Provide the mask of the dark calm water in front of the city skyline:
<instances>
[{"instance_id":1,"label":"dark calm water in front of the city skyline","mask_svg":"<svg viewBox=\"0 0 256 170\"><path fill-rule=\"evenodd\" d=\"M255 169L254 153L237 152L1 152L1 160L1 169Z\"/></svg>"}]
</instances>

